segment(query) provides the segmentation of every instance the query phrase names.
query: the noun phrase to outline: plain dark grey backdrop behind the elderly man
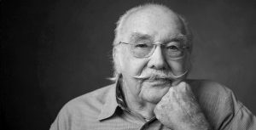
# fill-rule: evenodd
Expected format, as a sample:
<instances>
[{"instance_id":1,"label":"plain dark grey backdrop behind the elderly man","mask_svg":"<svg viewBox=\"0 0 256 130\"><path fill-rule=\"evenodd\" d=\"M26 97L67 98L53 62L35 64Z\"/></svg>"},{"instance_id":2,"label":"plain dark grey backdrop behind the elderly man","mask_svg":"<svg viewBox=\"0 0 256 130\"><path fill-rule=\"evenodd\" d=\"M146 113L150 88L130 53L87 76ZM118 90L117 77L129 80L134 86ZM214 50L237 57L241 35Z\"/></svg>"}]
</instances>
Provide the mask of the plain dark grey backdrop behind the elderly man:
<instances>
[{"instance_id":1,"label":"plain dark grey backdrop behind the elderly man","mask_svg":"<svg viewBox=\"0 0 256 130\"><path fill-rule=\"evenodd\" d=\"M68 100L111 83L115 22L145 2L164 3L189 20L189 77L223 83L256 113L253 1L1 1L1 128L49 129Z\"/></svg>"}]
</instances>

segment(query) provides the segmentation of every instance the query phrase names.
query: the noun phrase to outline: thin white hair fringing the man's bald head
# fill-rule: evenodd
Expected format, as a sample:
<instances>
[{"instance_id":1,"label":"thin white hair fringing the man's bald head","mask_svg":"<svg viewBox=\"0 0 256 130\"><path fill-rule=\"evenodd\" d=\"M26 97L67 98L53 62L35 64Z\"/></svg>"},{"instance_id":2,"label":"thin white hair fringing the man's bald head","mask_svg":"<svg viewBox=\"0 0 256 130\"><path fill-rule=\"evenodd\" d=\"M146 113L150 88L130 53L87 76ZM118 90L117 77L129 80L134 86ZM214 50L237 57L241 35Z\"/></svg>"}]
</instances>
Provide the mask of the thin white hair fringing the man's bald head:
<instances>
[{"instance_id":1,"label":"thin white hair fringing the man's bald head","mask_svg":"<svg viewBox=\"0 0 256 130\"><path fill-rule=\"evenodd\" d=\"M171 8L166 7L166 5L157 4L157 3L146 3L146 4L139 5L137 7L127 10L125 12L125 14L123 14L119 17L119 20L116 23L116 28L114 30L113 49L121 41L121 38L124 34L123 28L125 25L125 21L131 16L131 14L137 13L137 11L143 10L144 8L152 8L152 7L162 8L162 9L166 9L167 11L174 12L174 11L172 11ZM175 13L175 14L177 14L177 13ZM188 22L184 19L184 17L181 14L177 14L177 17L183 22L183 26L186 31L186 36L188 38L189 51L191 52L192 51L192 32L189 29ZM113 82L115 82L120 75L120 73L117 69L117 64L116 64L115 60L116 59L114 59L114 56L113 56L113 77L108 78L109 80L111 80Z\"/></svg>"}]
</instances>

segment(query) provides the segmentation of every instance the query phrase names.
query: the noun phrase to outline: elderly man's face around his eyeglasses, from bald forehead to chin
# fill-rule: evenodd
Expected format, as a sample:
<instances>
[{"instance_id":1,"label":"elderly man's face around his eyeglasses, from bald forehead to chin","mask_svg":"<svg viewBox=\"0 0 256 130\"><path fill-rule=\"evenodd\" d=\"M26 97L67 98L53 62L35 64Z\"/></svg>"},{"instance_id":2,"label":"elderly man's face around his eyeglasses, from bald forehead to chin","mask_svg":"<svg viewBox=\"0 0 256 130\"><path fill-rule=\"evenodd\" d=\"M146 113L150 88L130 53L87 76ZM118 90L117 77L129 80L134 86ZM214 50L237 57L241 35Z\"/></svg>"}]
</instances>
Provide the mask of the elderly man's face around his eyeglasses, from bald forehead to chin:
<instances>
[{"instance_id":1,"label":"elderly man's face around his eyeglasses, from bald forehead to chin","mask_svg":"<svg viewBox=\"0 0 256 130\"><path fill-rule=\"evenodd\" d=\"M181 20L176 14L165 12L142 12L133 14L124 25L124 38L121 42L137 43L152 41L179 45L182 42L177 36L185 35ZM158 103L170 87L183 80L174 76L182 75L188 71L189 51L185 50L182 58L170 58L165 48L157 46L152 55L137 57L129 44L120 44L116 47L116 62L119 72L123 76L125 96L138 101ZM174 76L167 79L138 79L136 76L154 75L154 73L172 73Z\"/></svg>"}]
</instances>

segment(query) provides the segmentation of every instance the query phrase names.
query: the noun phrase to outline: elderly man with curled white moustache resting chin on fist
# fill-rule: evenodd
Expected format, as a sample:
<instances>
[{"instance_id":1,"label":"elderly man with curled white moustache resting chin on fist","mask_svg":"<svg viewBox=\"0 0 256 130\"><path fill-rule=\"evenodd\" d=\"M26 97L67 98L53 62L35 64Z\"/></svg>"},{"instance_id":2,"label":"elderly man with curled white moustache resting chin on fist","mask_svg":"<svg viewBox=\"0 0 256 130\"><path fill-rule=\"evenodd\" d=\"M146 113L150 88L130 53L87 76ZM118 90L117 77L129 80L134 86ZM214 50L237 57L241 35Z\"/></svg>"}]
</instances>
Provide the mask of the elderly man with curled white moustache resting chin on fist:
<instances>
[{"instance_id":1,"label":"elderly man with curled white moustache resting chin on fist","mask_svg":"<svg viewBox=\"0 0 256 130\"><path fill-rule=\"evenodd\" d=\"M255 116L229 88L186 79L192 37L170 8L131 8L115 32L116 82L68 102L51 130L256 129Z\"/></svg>"}]
</instances>

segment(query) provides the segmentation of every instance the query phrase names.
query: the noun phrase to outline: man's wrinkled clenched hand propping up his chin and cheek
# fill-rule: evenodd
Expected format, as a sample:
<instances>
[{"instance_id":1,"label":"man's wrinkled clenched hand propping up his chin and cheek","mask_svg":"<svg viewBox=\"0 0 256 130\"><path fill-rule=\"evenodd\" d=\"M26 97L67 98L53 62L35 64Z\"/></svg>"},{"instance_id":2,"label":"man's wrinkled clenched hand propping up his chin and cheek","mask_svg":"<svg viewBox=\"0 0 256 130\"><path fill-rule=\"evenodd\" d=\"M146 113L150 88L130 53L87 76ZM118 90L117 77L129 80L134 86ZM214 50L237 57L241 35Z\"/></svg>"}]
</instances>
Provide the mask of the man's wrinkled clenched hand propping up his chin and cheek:
<instances>
[{"instance_id":1,"label":"man's wrinkled clenched hand propping up his chin and cheek","mask_svg":"<svg viewBox=\"0 0 256 130\"><path fill-rule=\"evenodd\" d=\"M154 108L154 114L163 125L173 130L211 129L186 82L170 88Z\"/></svg>"}]
</instances>

